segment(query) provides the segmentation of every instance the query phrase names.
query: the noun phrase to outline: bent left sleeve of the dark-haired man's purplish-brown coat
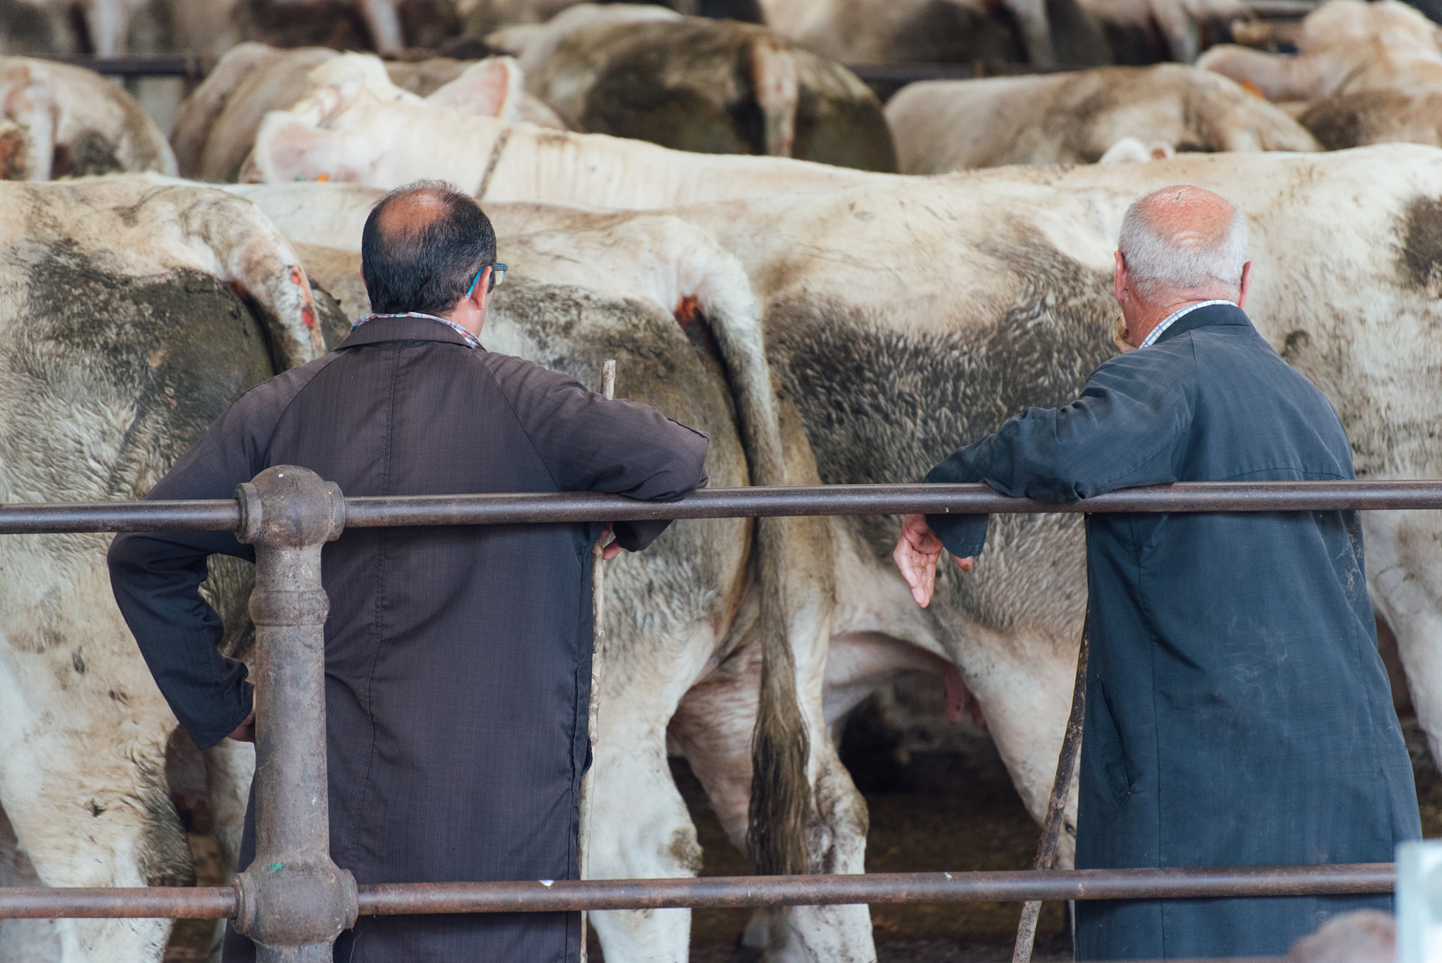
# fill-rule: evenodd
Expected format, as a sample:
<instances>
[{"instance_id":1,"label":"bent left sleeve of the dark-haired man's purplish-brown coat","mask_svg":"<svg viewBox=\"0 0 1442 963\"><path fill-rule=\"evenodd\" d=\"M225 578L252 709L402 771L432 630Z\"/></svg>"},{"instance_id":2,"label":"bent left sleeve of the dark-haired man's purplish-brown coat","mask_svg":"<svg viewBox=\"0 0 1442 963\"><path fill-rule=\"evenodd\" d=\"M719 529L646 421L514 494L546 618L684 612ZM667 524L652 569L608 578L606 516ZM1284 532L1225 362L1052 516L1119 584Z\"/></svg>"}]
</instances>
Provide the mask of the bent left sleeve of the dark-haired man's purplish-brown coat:
<instances>
[{"instance_id":1,"label":"bent left sleeve of the dark-haired man's purplish-brown coat","mask_svg":"<svg viewBox=\"0 0 1442 963\"><path fill-rule=\"evenodd\" d=\"M239 482L264 468L255 400L252 393L232 404L146 500L232 498ZM211 554L255 560L231 531L121 533L108 554L120 612L162 694L200 749L245 719L254 690L245 664L219 653L221 616L200 598Z\"/></svg>"}]
</instances>

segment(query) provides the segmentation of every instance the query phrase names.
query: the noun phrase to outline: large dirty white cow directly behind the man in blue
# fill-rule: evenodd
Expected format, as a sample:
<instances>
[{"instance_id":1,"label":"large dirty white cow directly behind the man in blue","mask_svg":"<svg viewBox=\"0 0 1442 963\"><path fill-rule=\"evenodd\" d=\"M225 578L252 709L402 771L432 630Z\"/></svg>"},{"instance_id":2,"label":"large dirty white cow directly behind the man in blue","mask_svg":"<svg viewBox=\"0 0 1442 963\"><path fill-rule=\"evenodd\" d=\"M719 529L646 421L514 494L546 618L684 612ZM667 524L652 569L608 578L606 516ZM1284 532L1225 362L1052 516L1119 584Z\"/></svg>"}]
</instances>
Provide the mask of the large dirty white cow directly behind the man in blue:
<instances>
[{"instance_id":1,"label":"large dirty white cow directly behind the man in blue","mask_svg":"<svg viewBox=\"0 0 1442 963\"><path fill-rule=\"evenodd\" d=\"M800 410L822 481L901 482L1022 407L1076 397L1115 351L1122 215L1178 182L1224 193L1247 218L1249 315L1331 398L1358 476L1438 476L1442 152L1005 167L675 214L746 264L771 368ZM506 205L493 217L502 231L523 231L601 215ZM865 284L855 283L859 261ZM1438 523L1387 511L1363 524L1373 605L1397 637L1417 716L1442 758ZM828 712L855 705L867 692L857 680L885 679L891 660L911 660L914 648L955 663L1040 819L1084 611L1080 521L995 518L976 572L943 566L927 609L891 563L894 518L838 520L835 536L826 687L849 697L829 699ZM684 700L678 718L686 712Z\"/></svg>"}]
</instances>

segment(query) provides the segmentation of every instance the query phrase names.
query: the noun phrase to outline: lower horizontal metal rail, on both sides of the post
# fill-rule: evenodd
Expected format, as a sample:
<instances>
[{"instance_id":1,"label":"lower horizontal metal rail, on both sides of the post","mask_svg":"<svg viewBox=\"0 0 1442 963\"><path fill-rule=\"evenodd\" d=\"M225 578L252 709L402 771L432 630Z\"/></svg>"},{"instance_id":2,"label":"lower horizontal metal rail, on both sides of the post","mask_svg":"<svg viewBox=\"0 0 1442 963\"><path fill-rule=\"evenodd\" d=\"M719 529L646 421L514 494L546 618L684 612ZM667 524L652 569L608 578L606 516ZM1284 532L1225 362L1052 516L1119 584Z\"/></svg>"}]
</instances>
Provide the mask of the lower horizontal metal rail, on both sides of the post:
<instances>
[{"instance_id":1,"label":"lower horizontal metal rail, on both sides of the post","mask_svg":"<svg viewBox=\"0 0 1442 963\"><path fill-rule=\"evenodd\" d=\"M555 882L411 882L362 885L360 912L558 912L672 907L800 907L1022 899L1197 899L1392 892L1393 863L1242 866L1234 869L1073 869L825 876L701 876ZM211 888L0 889L3 918L179 917L235 914L235 891Z\"/></svg>"}]
</instances>

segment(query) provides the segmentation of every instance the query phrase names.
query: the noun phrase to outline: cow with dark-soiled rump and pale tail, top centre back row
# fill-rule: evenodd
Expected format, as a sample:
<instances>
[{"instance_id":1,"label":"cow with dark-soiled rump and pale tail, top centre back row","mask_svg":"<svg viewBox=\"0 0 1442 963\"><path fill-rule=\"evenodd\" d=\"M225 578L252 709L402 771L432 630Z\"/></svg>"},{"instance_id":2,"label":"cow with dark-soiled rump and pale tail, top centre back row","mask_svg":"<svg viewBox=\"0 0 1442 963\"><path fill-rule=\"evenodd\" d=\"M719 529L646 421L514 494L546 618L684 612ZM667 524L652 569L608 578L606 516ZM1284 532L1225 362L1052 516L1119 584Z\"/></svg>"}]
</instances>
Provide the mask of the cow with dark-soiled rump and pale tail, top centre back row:
<instances>
[{"instance_id":1,"label":"cow with dark-soiled rump and pale tail, top centre back row","mask_svg":"<svg viewBox=\"0 0 1442 963\"><path fill-rule=\"evenodd\" d=\"M577 13L585 7L559 19ZM549 45L554 35L531 39L532 48ZM675 14L578 26L531 68L526 84L577 130L676 150L895 170L871 88L763 26Z\"/></svg>"}]
</instances>

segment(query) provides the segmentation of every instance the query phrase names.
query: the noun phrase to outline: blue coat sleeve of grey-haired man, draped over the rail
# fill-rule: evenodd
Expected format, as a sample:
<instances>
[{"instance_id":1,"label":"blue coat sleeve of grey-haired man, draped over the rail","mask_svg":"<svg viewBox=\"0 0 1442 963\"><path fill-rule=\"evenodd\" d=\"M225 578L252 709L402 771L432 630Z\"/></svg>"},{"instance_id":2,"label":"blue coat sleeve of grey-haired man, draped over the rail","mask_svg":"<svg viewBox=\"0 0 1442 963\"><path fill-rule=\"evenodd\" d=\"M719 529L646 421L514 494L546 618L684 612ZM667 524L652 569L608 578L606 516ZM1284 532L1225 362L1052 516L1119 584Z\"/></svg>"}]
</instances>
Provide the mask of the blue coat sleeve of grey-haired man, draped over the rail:
<instances>
[{"instance_id":1,"label":"blue coat sleeve of grey-haired man, draped over the rail","mask_svg":"<svg viewBox=\"0 0 1442 963\"><path fill-rule=\"evenodd\" d=\"M1178 345L1180 347L1180 345ZM1191 352L1146 348L1112 358L1061 409L1027 409L946 458L927 482L986 482L1004 495L1074 502L1177 481L1191 426ZM956 557L979 554L988 515L927 515Z\"/></svg>"}]
</instances>

